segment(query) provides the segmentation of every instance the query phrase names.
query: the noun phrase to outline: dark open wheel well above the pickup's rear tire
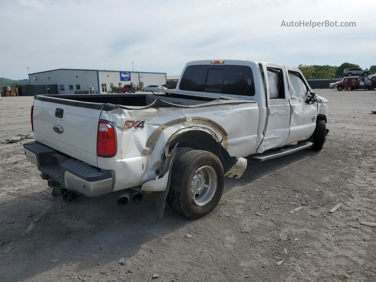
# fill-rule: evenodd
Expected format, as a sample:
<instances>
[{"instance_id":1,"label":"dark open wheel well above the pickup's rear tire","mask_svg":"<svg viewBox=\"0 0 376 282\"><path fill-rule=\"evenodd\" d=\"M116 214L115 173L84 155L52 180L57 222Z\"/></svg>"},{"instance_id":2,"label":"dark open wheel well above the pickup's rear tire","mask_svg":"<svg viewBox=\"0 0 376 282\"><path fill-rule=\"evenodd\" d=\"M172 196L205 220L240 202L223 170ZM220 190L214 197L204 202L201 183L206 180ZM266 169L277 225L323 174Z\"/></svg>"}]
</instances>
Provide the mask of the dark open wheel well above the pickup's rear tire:
<instances>
[{"instance_id":1,"label":"dark open wheel well above the pickup's rear tire","mask_svg":"<svg viewBox=\"0 0 376 282\"><path fill-rule=\"evenodd\" d=\"M195 150L204 150L213 153L222 162L224 173L229 171L237 162L237 158L230 156L221 143L216 141L212 135L202 130L183 132L171 140L171 147L175 146L176 143L179 143L178 147L190 147Z\"/></svg>"}]
</instances>

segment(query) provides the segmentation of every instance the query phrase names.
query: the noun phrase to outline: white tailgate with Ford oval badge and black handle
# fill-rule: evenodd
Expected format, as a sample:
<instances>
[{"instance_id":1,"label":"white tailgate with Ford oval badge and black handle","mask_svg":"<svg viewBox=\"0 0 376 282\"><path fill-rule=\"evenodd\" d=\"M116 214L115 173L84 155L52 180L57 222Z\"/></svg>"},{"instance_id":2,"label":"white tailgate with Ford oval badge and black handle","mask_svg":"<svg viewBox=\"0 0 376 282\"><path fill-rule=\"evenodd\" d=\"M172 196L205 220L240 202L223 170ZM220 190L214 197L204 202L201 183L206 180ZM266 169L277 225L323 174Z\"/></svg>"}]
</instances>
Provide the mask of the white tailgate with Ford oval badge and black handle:
<instances>
[{"instance_id":1,"label":"white tailgate with Ford oval badge and black handle","mask_svg":"<svg viewBox=\"0 0 376 282\"><path fill-rule=\"evenodd\" d=\"M56 110L57 109L57 110ZM36 141L97 167L97 131L101 109L34 100ZM60 126L59 133L54 126Z\"/></svg>"}]
</instances>

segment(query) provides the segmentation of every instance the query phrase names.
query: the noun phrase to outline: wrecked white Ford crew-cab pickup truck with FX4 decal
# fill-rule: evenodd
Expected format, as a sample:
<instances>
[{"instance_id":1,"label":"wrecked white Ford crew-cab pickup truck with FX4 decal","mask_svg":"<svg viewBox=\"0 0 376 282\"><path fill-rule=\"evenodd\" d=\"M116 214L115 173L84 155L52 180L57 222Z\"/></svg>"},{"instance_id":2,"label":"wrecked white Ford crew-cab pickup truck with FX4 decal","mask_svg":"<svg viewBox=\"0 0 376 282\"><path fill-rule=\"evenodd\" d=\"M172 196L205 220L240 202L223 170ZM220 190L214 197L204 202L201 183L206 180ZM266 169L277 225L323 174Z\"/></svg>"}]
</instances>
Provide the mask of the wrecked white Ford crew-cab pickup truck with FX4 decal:
<instances>
[{"instance_id":1,"label":"wrecked white Ford crew-cab pickup truck with FX4 decal","mask_svg":"<svg viewBox=\"0 0 376 282\"><path fill-rule=\"evenodd\" d=\"M156 196L188 218L211 212L224 177L326 137L327 100L299 69L248 60L186 64L176 90L150 94L37 95L27 159L67 200L124 190ZM132 197L133 195L133 197Z\"/></svg>"}]
</instances>

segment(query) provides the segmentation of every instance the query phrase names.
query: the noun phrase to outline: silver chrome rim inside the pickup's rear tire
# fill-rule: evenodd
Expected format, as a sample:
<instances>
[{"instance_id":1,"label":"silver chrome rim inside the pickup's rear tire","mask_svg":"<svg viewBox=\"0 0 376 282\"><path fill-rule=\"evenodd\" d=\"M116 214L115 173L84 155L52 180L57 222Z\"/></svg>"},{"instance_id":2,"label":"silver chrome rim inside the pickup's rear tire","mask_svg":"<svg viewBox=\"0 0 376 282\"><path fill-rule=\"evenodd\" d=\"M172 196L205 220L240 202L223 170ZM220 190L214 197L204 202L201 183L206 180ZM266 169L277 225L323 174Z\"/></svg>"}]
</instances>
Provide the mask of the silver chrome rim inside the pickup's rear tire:
<instances>
[{"instance_id":1,"label":"silver chrome rim inside the pickup's rear tire","mask_svg":"<svg viewBox=\"0 0 376 282\"><path fill-rule=\"evenodd\" d=\"M191 183L191 196L197 206L205 206L213 199L217 190L217 173L214 168L204 165L197 168Z\"/></svg>"}]
</instances>

